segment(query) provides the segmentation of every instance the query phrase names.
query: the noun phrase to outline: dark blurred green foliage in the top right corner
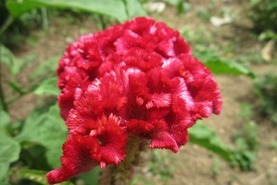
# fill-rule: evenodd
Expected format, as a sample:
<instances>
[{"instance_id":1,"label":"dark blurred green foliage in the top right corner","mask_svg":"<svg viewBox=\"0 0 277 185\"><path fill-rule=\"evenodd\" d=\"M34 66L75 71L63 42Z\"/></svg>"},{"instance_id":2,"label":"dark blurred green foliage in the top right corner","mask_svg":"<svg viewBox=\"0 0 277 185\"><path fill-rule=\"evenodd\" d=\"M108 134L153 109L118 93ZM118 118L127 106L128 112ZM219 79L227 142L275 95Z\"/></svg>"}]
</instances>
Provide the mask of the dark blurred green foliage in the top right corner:
<instances>
[{"instance_id":1,"label":"dark blurred green foliage in the top right corner","mask_svg":"<svg viewBox=\"0 0 277 185\"><path fill-rule=\"evenodd\" d=\"M268 30L277 33L277 1L276 0L250 0L253 28L257 33Z\"/></svg>"}]
</instances>

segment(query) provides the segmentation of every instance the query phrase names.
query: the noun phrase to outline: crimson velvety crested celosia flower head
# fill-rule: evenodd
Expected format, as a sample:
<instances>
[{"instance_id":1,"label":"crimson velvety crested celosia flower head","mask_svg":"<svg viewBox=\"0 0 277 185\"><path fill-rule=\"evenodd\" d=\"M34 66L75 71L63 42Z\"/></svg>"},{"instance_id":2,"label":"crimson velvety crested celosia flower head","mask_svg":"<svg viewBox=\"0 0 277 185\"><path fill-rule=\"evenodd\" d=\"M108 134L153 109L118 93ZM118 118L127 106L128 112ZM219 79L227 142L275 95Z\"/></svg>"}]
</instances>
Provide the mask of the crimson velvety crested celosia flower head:
<instances>
[{"instance_id":1,"label":"crimson velvety crested celosia flower head","mask_svg":"<svg viewBox=\"0 0 277 185\"><path fill-rule=\"evenodd\" d=\"M120 164L130 136L178 152L197 119L219 114L220 91L177 30L138 17L71 44L57 69L69 130L50 184Z\"/></svg>"}]
</instances>

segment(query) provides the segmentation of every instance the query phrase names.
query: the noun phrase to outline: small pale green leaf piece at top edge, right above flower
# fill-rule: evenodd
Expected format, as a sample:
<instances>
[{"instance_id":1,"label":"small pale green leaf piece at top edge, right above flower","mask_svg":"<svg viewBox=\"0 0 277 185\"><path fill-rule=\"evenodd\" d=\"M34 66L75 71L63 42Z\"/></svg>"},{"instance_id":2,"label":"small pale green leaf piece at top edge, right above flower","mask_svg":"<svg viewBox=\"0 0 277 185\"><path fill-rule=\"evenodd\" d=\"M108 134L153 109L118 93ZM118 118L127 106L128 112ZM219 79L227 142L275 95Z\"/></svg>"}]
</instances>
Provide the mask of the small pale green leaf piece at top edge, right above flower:
<instances>
[{"instance_id":1,"label":"small pale green leaf piece at top edge, right above flower","mask_svg":"<svg viewBox=\"0 0 277 185\"><path fill-rule=\"evenodd\" d=\"M147 15L139 0L126 0L126 8L129 19Z\"/></svg>"}]
</instances>

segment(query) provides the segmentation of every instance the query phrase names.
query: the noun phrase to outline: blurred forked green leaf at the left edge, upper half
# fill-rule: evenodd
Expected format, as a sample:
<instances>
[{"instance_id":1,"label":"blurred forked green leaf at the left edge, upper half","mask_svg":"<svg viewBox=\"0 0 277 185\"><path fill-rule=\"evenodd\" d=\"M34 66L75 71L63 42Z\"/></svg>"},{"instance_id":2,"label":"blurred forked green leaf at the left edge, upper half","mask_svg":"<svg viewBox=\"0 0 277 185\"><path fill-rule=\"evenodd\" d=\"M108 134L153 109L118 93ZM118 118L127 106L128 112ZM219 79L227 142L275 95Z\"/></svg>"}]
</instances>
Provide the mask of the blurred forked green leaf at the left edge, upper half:
<instances>
[{"instance_id":1,"label":"blurred forked green leaf at the left edge, upper half","mask_svg":"<svg viewBox=\"0 0 277 185\"><path fill-rule=\"evenodd\" d=\"M33 62L35 58L37 58L36 55L29 55L27 58L19 60L8 48L0 44L0 62L6 64L12 75L17 75L26 64Z\"/></svg>"}]
</instances>

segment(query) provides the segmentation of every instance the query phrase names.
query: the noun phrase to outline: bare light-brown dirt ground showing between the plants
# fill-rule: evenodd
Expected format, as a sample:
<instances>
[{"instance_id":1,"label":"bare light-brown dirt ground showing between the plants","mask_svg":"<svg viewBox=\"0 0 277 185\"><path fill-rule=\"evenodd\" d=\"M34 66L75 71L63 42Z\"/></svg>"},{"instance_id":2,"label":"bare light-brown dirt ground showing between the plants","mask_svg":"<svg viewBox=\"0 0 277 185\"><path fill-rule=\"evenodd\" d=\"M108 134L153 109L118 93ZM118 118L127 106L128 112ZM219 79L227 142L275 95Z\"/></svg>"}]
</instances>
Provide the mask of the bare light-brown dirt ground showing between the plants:
<instances>
[{"instance_id":1,"label":"bare light-brown dirt ground showing between the plants","mask_svg":"<svg viewBox=\"0 0 277 185\"><path fill-rule=\"evenodd\" d=\"M177 17L175 8L168 7L165 12L160 15L153 15L158 21L165 21L173 28L186 28L195 30L199 26L204 26L207 32L211 32L215 39L214 45L222 47L230 46L235 37L240 37L238 43L238 53L233 55L256 51L260 49L261 44L249 39L249 24L244 24L244 20L235 19L235 24L215 28L208 21L202 21L197 17L197 8L199 6L208 6L211 1L192 1L192 10L188 13ZM241 6L242 4L242 6ZM220 1L216 4L215 13L220 13L221 7L230 8L230 10L238 11L238 15L243 14L247 10L247 4L241 1ZM240 16L237 16L240 17ZM16 51L19 58L26 55L36 53L38 61L42 62L53 55L57 55L64 51L66 46L73 42L80 35L89 33L90 30L96 30L93 21L82 20L75 24L64 23L63 19L50 19L50 30L46 36L42 36L39 31L33 31L31 35L37 36L39 39L35 42L35 46L28 46ZM241 25L247 25L241 28ZM195 43L192 44L192 46ZM31 72L39 63L33 63L28 66L23 74L19 76L20 84L28 85L28 78L24 77L24 73ZM251 65L251 69L256 73L266 73L267 71L277 71L276 64L256 64ZM220 116L211 116L204 120L208 126L212 127L219 134L223 143L232 145L232 135L236 130L243 127L244 122L238 116L240 113L240 105L243 102L255 103L256 98L253 96L253 80L245 76L215 76L220 89L222 91L223 107ZM9 94L6 91L6 94ZM24 118L37 105L37 96L28 95L21 98L17 103L10 107L10 113L14 120ZM27 105L27 106L26 106ZM24 107L21 109L19 107ZM277 152L272 150L269 141L277 139L277 129L272 127L267 119L259 119L259 136L258 141L258 159L256 160L256 170L242 172L238 168L231 168L229 164L213 155L211 152L199 146L188 143L182 147L179 153L174 154L167 150L161 150L160 153L166 157L166 166L172 168L170 178L163 179L161 175L154 175L149 172L149 166L138 168L138 177L143 177L150 184L174 184L174 185L198 185L198 184L246 184L246 185L273 185L277 182ZM256 121L257 122L257 121ZM150 152L148 152L150 156ZM150 157L146 157L150 160ZM215 161L217 161L215 163ZM219 162L218 162L219 161ZM147 162L146 162L147 164ZM217 166L218 173L213 172L213 168ZM271 171L271 174L268 172ZM143 184L138 182L138 184Z\"/></svg>"}]
</instances>

